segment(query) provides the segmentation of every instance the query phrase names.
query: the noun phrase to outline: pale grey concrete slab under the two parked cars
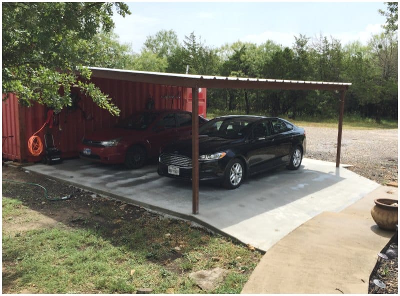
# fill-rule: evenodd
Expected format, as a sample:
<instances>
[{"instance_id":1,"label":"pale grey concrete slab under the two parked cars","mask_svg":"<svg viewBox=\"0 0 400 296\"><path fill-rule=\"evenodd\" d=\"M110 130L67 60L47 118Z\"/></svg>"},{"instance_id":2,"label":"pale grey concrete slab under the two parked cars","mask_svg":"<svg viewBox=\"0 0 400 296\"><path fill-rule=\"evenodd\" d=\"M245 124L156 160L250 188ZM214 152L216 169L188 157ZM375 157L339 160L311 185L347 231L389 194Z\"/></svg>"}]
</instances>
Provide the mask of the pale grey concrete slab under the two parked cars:
<instances>
[{"instance_id":1,"label":"pale grey concrete slab under the two parked cars","mask_svg":"<svg viewBox=\"0 0 400 296\"><path fill-rule=\"evenodd\" d=\"M235 190L200 183L199 213L193 215L191 183L158 176L156 165L127 170L74 159L25 169L192 220L263 251L319 213L339 212L379 187L334 163L305 158L297 171L261 174Z\"/></svg>"}]
</instances>

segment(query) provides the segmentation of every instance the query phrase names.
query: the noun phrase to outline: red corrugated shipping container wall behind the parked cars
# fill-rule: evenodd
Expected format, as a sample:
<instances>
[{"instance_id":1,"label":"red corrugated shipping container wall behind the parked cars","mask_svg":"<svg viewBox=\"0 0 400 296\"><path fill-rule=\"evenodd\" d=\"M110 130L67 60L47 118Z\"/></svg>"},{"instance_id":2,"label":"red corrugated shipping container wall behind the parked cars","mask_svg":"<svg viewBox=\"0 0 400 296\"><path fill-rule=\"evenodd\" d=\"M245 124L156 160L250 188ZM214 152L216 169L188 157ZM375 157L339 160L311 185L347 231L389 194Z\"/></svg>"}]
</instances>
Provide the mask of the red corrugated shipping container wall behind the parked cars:
<instances>
[{"instance_id":1,"label":"red corrugated shipping container wall behind the parked cars","mask_svg":"<svg viewBox=\"0 0 400 296\"><path fill-rule=\"evenodd\" d=\"M154 102L153 109L191 111L191 88L103 78L92 78L92 82L112 98L112 102L120 109L120 116L112 116L108 111L95 105L90 98L78 93L78 97L81 98L78 101L79 108L64 108L55 115L52 128L46 126L38 133L43 145L44 134L51 133L63 158L77 157L77 144L85 133L112 127L118 120L134 111L145 109L150 97ZM205 89L199 92L198 113L206 116ZM2 102L2 136L13 136L13 138L5 140L3 138L3 157L20 162L40 161L40 157L34 157L28 152L27 142L29 137L42 127L46 121L46 114L45 106L39 104L31 107L19 106L17 98L10 94L9 99Z\"/></svg>"}]
</instances>

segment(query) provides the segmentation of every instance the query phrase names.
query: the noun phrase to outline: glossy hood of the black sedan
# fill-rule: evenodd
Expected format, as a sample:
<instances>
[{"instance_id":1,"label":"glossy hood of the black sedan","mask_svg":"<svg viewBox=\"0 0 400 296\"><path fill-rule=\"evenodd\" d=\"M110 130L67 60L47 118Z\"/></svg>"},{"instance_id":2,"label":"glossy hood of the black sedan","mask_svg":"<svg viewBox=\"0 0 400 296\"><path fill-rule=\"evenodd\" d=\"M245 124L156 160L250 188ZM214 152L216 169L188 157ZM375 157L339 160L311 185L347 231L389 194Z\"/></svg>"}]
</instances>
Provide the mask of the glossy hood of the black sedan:
<instances>
[{"instance_id":1,"label":"glossy hood of the black sedan","mask_svg":"<svg viewBox=\"0 0 400 296\"><path fill-rule=\"evenodd\" d=\"M198 137L198 154L211 154L229 149L243 139L224 139L220 137ZM176 153L191 157L191 139L176 141L162 148L162 153Z\"/></svg>"}]
</instances>

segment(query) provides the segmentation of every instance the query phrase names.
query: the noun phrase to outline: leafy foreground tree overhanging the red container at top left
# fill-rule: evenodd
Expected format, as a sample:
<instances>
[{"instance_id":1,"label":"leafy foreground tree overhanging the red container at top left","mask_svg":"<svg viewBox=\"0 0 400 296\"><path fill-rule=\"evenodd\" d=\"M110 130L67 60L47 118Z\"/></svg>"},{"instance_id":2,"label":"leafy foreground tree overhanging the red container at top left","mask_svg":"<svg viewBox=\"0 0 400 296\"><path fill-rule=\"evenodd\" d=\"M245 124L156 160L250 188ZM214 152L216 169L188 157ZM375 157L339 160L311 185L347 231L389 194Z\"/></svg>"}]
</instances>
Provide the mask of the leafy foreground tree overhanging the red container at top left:
<instances>
[{"instance_id":1,"label":"leafy foreground tree overhanging the red container at top left","mask_svg":"<svg viewBox=\"0 0 400 296\"><path fill-rule=\"evenodd\" d=\"M110 98L89 83L84 47L99 32L112 30L112 9L125 17L123 3L2 3L2 92L19 103L45 104L60 110L71 105L71 87L111 114ZM75 74L80 73L80 79Z\"/></svg>"}]
</instances>

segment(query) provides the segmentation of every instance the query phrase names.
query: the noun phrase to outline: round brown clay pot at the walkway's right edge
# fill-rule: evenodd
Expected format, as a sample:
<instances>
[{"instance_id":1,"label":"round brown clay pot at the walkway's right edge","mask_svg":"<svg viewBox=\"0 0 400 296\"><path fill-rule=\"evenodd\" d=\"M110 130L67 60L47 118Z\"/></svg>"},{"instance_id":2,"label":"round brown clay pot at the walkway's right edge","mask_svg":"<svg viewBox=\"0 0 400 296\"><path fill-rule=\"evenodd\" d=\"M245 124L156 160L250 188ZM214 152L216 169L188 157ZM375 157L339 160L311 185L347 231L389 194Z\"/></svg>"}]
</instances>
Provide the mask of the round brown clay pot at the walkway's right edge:
<instances>
[{"instance_id":1,"label":"round brown clay pot at the walkway's right edge","mask_svg":"<svg viewBox=\"0 0 400 296\"><path fill-rule=\"evenodd\" d=\"M396 230L398 223L397 200L389 198L377 198L375 206L371 209L371 216L379 228L389 231Z\"/></svg>"}]
</instances>

